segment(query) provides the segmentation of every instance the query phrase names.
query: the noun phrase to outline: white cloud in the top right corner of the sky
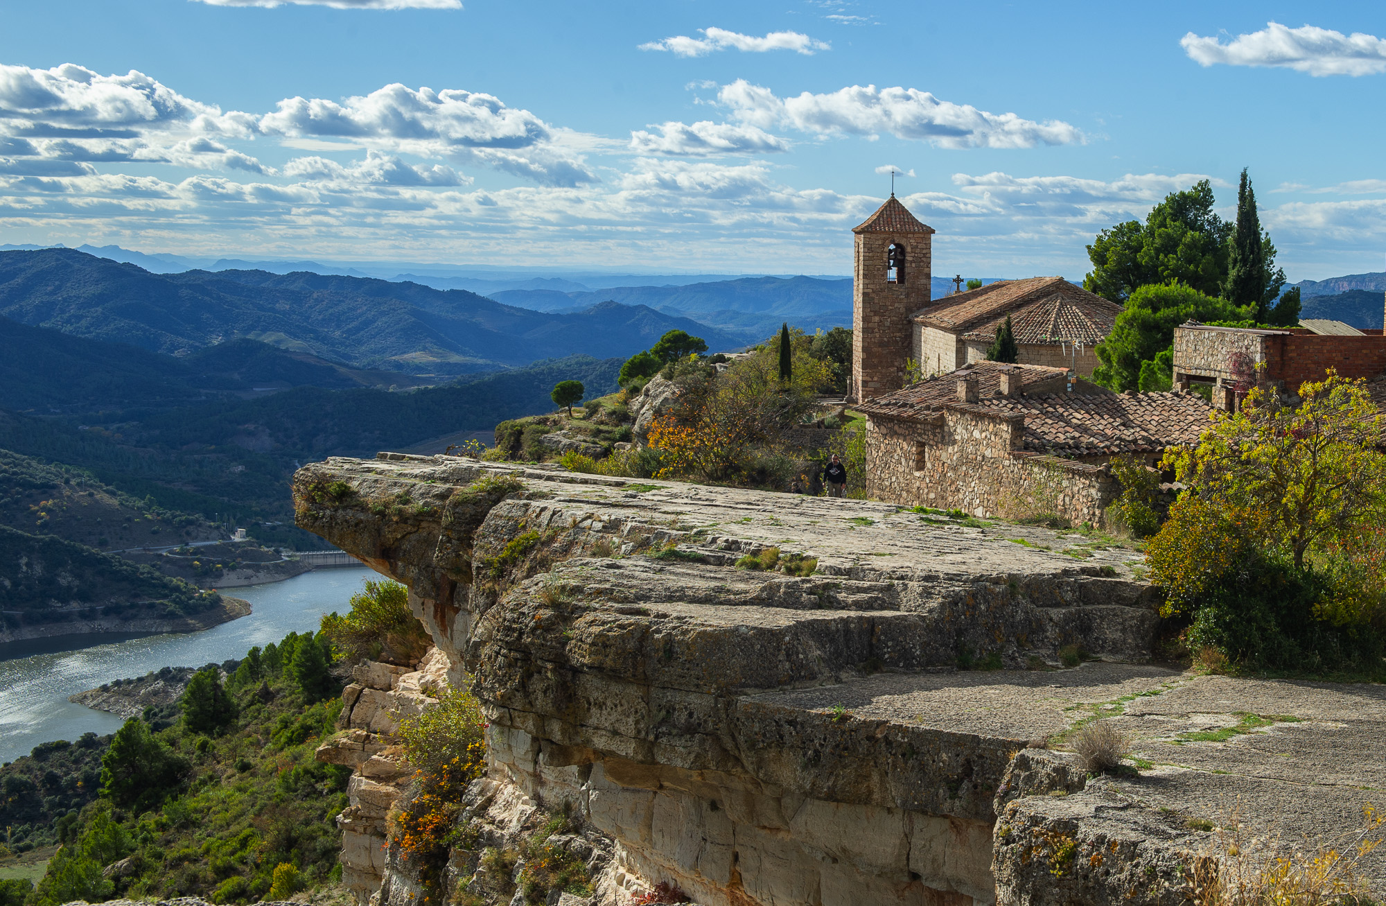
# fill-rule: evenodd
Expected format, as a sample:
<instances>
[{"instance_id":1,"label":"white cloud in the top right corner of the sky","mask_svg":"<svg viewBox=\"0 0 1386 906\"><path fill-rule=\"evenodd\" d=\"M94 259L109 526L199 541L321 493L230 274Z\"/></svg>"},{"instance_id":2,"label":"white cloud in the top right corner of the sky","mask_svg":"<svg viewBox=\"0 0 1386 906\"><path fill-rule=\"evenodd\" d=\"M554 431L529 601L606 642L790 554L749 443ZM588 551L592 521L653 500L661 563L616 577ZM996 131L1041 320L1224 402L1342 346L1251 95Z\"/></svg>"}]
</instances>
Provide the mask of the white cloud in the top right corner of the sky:
<instances>
[{"instance_id":1,"label":"white cloud in the top right corner of the sky","mask_svg":"<svg viewBox=\"0 0 1386 906\"><path fill-rule=\"evenodd\" d=\"M1222 44L1217 37L1199 37L1189 32L1179 46L1191 60L1203 66L1283 66L1313 76L1376 75L1386 72L1386 40L1375 35L1343 35L1326 28L1303 25L1286 28L1267 22L1260 32L1238 35Z\"/></svg>"}]
</instances>

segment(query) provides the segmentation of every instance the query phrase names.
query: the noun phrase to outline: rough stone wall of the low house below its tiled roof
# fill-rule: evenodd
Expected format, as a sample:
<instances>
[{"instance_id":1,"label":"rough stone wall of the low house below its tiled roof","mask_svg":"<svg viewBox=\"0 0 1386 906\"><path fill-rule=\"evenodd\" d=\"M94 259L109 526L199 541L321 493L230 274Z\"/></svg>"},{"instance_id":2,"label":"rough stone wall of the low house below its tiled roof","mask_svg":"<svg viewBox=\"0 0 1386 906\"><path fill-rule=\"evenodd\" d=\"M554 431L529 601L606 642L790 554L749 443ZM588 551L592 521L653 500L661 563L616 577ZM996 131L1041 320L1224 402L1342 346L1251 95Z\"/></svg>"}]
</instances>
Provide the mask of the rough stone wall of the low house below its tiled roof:
<instances>
[{"instance_id":1,"label":"rough stone wall of the low house below its tiled roof","mask_svg":"<svg viewBox=\"0 0 1386 906\"><path fill-rule=\"evenodd\" d=\"M979 518L1103 524L1120 483L1100 463L1019 450L1024 416L955 405L929 423L868 416L866 495Z\"/></svg>"}]
</instances>

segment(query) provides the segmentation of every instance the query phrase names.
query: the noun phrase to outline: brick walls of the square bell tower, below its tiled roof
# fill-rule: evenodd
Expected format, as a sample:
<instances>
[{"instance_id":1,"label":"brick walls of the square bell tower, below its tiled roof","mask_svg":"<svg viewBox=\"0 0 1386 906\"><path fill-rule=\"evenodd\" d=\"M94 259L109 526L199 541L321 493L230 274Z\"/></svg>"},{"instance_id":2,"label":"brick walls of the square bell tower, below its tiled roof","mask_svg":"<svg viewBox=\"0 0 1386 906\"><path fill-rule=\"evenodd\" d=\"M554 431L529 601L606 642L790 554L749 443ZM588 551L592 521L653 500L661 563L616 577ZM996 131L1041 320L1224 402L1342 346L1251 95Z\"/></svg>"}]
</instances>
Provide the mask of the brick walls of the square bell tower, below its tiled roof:
<instances>
[{"instance_id":1,"label":"brick walls of the square bell tower, below its tiled roof","mask_svg":"<svg viewBox=\"0 0 1386 906\"><path fill-rule=\"evenodd\" d=\"M905 247L904 284L886 281L886 249L891 242ZM852 258L851 393L854 399L870 399L905 384L905 359L915 356L909 319L929 305L930 237L857 233Z\"/></svg>"}]
</instances>

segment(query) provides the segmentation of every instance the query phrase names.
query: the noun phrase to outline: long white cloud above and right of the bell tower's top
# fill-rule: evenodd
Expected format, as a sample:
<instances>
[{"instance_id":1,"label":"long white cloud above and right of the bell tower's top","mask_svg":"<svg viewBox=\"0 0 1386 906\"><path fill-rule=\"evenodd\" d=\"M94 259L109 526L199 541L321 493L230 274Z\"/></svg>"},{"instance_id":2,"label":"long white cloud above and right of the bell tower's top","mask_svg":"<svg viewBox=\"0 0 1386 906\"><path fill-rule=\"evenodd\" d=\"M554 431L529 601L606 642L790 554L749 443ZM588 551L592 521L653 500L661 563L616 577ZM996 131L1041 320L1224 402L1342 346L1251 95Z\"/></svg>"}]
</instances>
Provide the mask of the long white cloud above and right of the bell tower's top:
<instances>
[{"instance_id":1,"label":"long white cloud above and right of the bell tower's top","mask_svg":"<svg viewBox=\"0 0 1386 906\"><path fill-rule=\"evenodd\" d=\"M990 114L970 104L940 101L918 89L854 85L830 94L804 91L779 98L769 89L737 79L718 91L735 119L771 129L789 126L818 134L859 134L929 141L941 148L1033 148L1085 141L1062 121L1035 122L1016 114Z\"/></svg>"}]
</instances>

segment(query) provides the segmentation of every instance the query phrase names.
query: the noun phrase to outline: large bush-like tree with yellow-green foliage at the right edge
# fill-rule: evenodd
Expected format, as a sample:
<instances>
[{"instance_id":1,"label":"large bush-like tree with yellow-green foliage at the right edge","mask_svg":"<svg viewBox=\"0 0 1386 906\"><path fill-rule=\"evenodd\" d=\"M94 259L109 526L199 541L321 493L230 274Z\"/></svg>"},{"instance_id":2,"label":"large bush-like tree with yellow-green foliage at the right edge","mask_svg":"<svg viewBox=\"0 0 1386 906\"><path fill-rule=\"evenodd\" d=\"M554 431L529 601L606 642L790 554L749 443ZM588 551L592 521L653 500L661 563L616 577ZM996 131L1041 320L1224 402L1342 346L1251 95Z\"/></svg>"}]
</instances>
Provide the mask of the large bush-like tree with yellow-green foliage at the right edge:
<instances>
[{"instance_id":1,"label":"large bush-like tree with yellow-green foliage at the right edge","mask_svg":"<svg viewBox=\"0 0 1386 906\"><path fill-rule=\"evenodd\" d=\"M1171 449L1186 490L1150 540L1164 615L1232 661L1382 670L1386 456L1364 381L1329 371L1289 406L1253 389L1195 449Z\"/></svg>"}]
</instances>

